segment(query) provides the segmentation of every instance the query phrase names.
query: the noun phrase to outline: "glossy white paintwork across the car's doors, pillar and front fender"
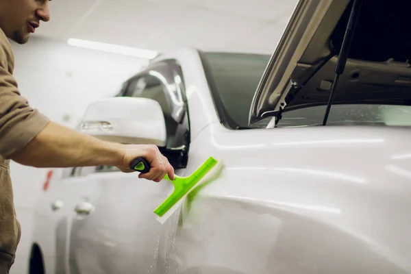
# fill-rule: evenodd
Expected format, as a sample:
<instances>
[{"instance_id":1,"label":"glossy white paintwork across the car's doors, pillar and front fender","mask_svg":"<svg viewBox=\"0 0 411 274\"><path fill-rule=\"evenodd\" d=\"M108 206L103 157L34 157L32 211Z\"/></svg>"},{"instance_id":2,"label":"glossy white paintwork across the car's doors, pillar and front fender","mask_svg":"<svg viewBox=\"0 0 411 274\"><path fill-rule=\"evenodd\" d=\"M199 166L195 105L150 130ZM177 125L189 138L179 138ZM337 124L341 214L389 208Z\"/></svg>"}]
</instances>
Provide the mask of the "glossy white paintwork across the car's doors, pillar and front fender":
<instances>
[{"instance_id":1,"label":"glossy white paintwork across the car's doors, pillar and front fender","mask_svg":"<svg viewBox=\"0 0 411 274\"><path fill-rule=\"evenodd\" d=\"M182 66L190 114L177 174L213 156L224 159L221 177L164 225L153 209L166 181L53 180L34 227L47 273L411 273L410 128L225 129L197 51L158 60L168 58ZM64 207L53 212L56 200ZM76 214L79 204L93 210Z\"/></svg>"}]
</instances>

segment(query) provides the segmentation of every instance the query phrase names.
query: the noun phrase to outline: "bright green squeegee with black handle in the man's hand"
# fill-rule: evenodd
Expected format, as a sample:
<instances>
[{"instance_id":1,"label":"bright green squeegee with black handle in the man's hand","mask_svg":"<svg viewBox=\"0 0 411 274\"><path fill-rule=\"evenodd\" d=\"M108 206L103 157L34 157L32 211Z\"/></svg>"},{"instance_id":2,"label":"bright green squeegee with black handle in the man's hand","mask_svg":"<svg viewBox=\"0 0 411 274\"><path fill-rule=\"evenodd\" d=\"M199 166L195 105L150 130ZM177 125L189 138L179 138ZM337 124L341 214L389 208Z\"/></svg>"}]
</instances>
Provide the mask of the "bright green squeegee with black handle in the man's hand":
<instances>
[{"instance_id":1,"label":"bright green squeegee with black handle in the man's hand","mask_svg":"<svg viewBox=\"0 0 411 274\"><path fill-rule=\"evenodd\" d=\"M188 177L174 175L175 179L171 180L169 175L166 174L164 176L164 179L174 185L174 190L173 193L154 210L154 213L158 215L158 221L160 221L160 223L164 223L164 221L171 216L171 214L173 214L174 210L177 209L173 207L175 207L179 201L182 201L182 199L186 197L186 195L188 195L188 193L194 189L197 184L199 184L201 179L203 179L203 177L207 175L218 162L219 161L210 157L206 160L206 162L203 162L203 164L201 164L201 166L199 166L199 168L192 173L192 175ZM130 168L135 171L139 171L140 173L148 173L151 166L145 158L138 157L130 163Z\"/></svg>"}]
</instances>

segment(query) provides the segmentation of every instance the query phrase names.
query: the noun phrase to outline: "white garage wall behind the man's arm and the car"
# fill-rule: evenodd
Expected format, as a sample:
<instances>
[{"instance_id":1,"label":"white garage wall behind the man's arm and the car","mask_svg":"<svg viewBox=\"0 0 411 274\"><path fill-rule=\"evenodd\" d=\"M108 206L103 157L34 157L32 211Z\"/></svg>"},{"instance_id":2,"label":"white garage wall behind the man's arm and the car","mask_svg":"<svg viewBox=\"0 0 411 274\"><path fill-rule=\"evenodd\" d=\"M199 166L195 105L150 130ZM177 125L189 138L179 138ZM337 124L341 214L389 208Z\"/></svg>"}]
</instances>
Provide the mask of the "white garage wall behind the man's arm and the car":
<instances>
[{"instance_id":1,"label":"white garage wall behind the man's arm and the car","mask_svg":"<svg viewBox=\"0 0 411 274\"><path fill-rule=\"evenodd\" d=\"M147 60L79 49L63 42L32 38L26 45L12 42L14 76L29 103L52 121L75 127L90 101L110 97L122 82ZM70 116L66 121L64 116ZM27 273L32 235L32 208L42 189L47 169L12 162L14 203L22 226L12 274Z\"/></svg>"}]
</instances>

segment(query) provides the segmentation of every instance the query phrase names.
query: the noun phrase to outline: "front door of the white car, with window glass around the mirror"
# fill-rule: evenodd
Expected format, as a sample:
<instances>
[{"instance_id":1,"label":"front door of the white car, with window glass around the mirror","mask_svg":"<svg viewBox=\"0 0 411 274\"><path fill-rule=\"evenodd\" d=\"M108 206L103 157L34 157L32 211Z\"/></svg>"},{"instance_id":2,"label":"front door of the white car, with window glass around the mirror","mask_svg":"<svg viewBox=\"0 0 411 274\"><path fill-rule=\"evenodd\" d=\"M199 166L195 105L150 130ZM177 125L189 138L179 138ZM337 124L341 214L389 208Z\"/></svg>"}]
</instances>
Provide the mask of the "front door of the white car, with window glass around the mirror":
<instances>
[{"instance_id":1,"label":"front door of the white car, with window glass around the mirror","mask_svg":"<svg viewBox=\"0 0 411 274\"><path fill-rule=\"evenodd\" d=\"M183 175L188 147L184 87L173 61L151 64L127 82L119 96L155 99L166 121L166 147L177 175ZM179 75L182 79L182 75ZM84 196L77 201L69 247L70 273L156 273L162 226L153 210L173 185L139 179L114 166L97 166L86 175Z\"/></svg>"}]
</instances>

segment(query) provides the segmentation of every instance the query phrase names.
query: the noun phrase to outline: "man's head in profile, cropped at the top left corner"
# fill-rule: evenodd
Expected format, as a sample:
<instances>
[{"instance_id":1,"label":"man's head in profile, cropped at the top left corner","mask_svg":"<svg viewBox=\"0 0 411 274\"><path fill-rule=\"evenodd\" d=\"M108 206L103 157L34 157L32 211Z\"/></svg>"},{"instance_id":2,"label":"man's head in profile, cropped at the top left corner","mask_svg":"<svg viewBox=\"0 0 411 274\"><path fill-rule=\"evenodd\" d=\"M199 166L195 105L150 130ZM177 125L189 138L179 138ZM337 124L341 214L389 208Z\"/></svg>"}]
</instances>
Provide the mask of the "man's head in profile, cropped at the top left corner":
<instances>
[{"instance_id":1,"label":"man's head in profile, cropped at the top left corner","mask_svg":"<svg viewBox=\"0 0 411 274\"><path fill-rule=\"evenodd\" d=\"M49 0L0 0L0 28L18 44L29 40L40 21L49 20Z\"/></svg>"}]
</instances>

